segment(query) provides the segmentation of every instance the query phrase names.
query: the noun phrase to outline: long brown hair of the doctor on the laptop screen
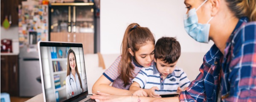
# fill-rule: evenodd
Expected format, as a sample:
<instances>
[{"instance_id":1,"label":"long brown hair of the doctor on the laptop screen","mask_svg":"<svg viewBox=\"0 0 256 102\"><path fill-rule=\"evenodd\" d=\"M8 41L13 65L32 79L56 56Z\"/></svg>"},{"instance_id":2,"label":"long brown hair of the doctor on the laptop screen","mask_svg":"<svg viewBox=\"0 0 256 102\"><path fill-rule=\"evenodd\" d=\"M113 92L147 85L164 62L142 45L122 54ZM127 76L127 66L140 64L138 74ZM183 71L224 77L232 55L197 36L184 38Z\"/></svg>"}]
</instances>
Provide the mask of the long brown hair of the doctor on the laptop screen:
<instances>
[{"instance_id":1,"label":"long brown hair of the doctor on the laptop screen","mask_svg":"<svg viewBox=\"0 0 256 102\"><path fill-rule=\"evenodd\" d=\"M67 54L67 76L69 76L69 75L70 75L70 72L71 72L70 61L69 61L69 55L70 55L70 53L73 53L73 54L74 54L75 60L76 60L76 54L75 54L75 52L74 52L72 49L70 49L70 50L68 51L68 54ZM80 75L79 75L79 72L78 72L77 63L76 63L76 68L75 68L75 69L76 69L76 74L77 74L78 79L79 79L79 82L80 82L80 87L82 88L82 82L81 82L81 78L80 78Z\"/></svg>"}]
</instances>

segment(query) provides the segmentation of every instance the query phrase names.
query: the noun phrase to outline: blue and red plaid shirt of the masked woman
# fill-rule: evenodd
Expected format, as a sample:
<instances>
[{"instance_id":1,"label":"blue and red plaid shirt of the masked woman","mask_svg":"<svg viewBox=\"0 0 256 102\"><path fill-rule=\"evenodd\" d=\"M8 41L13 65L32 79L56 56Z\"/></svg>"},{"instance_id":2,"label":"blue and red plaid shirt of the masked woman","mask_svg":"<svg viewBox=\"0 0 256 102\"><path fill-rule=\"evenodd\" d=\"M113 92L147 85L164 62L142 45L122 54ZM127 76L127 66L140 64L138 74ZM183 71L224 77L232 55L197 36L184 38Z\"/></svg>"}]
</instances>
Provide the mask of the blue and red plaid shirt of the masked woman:
<instances>
[{"instance_id":1,"label":"blue and red plaid shirt of the masked woman","mask_svg":"<svg viewBox=\"0 0 256 102\"><path fill-rule=\"evenodd\" d=\"M216 102L219 88L223 102L256 102L256 22L247 21L239 19L224 55L212 45L201 73L180 93L181 102Z\"/></svg>"}]
</instances>

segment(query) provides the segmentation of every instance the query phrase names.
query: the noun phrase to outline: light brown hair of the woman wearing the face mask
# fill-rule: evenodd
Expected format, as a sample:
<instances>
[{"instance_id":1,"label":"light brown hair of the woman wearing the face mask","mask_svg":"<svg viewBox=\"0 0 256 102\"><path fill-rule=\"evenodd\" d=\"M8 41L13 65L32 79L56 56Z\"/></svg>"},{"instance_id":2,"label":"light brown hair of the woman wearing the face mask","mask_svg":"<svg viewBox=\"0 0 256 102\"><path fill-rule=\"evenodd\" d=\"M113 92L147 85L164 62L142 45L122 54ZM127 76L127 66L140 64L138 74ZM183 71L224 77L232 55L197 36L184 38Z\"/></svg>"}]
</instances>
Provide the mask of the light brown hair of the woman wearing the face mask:
<instances>
[{"instance_id":1,"label":"light brown hair of the woman wearing the face mask","mask_svg":"<svg viewBox=\"0 0 256 102\"><path fill-rule=\"evenodd\" d=\"M256 21L256 0L225 0L227 6L237 18L249 17L250 21Z\"/></svg>"}]
</instances>

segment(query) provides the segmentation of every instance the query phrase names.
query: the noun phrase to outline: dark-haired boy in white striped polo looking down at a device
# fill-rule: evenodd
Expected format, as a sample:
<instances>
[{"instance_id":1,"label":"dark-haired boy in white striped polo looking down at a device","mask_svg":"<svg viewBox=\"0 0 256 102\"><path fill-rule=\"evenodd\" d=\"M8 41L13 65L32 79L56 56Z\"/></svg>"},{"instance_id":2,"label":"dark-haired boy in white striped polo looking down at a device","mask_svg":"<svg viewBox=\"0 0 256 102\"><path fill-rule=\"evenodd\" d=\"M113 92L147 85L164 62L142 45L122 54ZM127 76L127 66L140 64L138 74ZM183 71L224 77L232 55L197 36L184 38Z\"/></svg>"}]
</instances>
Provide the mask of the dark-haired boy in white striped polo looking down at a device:
<instances>
[{"instance_id":1,"label":"dark-haired boy in white striped polo looking down at a device","mask_svg":"<svg viewBox=\"0 0 256 102\"><path fill-rule=\"evenodd\" d=\"M176 67L180 57L180 43L173 37L162 37L155 45L153 67L143 68L133 79L130 90L143 88L136 96L160 97L159 94L180 93L190 84L186 73Z\"/></svg>"}]
</instances>

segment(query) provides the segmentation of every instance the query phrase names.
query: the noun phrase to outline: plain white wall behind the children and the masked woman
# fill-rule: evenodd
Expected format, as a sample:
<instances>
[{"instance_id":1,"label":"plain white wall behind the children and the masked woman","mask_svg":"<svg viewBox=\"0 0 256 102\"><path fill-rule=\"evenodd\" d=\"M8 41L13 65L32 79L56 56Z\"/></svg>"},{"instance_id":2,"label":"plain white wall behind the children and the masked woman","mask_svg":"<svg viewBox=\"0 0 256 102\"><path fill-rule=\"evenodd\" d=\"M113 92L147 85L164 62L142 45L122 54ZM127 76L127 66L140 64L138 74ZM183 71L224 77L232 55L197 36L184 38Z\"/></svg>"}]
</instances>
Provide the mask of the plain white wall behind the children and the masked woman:
<instances>
[{"instance_id":1,"label":"plain white wall behind the children and the masked woman","mask_svg":"<svg viewBox=\"0 0 256 102\"><path fill-rule=\"evenodd\" d=\"M207 52L213 42L196 42L183 27L184 0L101 0L100 51L120 54L125 29L130 23L148 27L156 41L163 36L177 37L182 52Z\"/></svg>"}]
</instances>

